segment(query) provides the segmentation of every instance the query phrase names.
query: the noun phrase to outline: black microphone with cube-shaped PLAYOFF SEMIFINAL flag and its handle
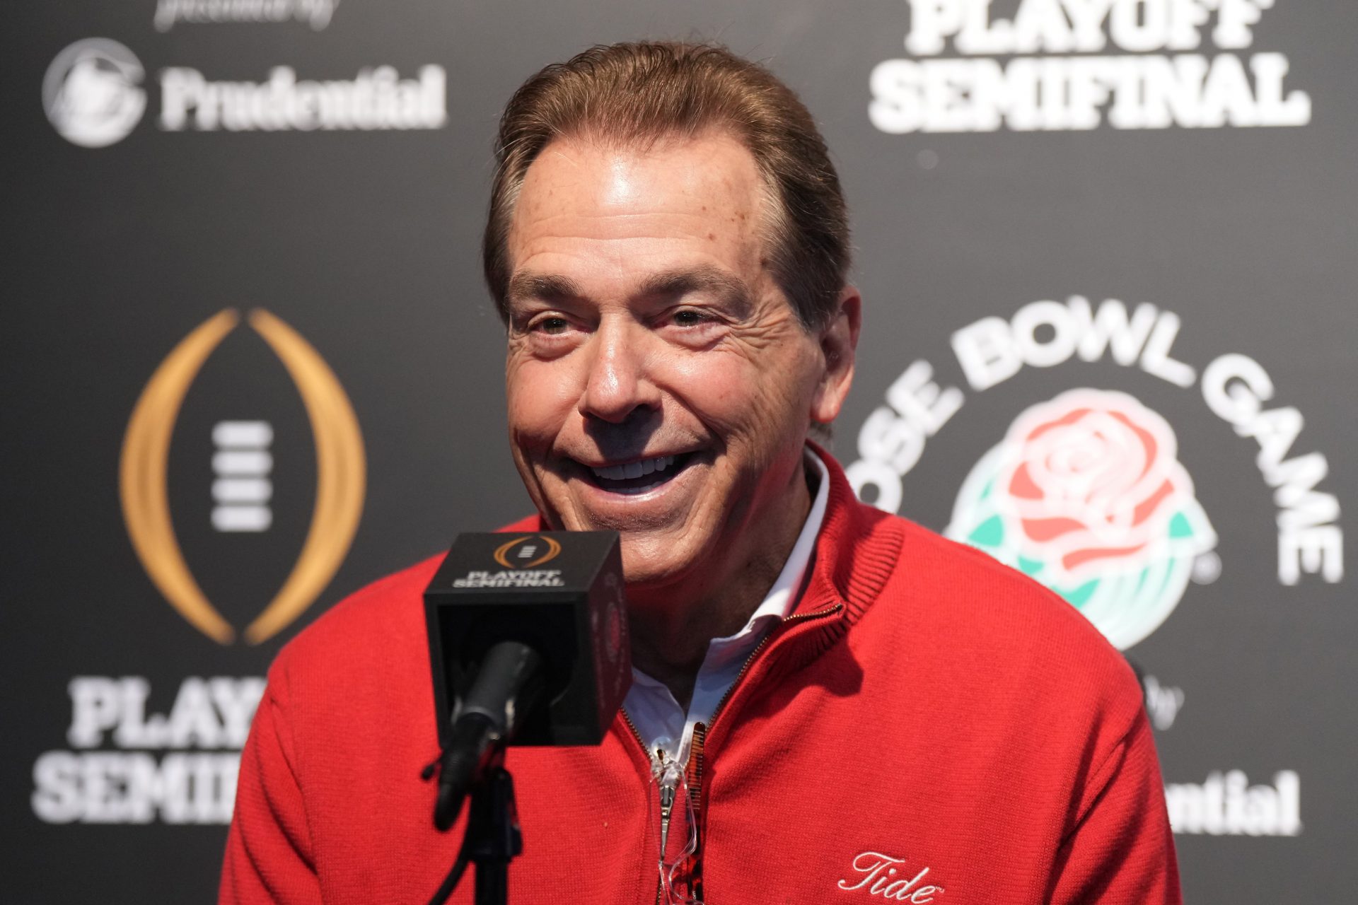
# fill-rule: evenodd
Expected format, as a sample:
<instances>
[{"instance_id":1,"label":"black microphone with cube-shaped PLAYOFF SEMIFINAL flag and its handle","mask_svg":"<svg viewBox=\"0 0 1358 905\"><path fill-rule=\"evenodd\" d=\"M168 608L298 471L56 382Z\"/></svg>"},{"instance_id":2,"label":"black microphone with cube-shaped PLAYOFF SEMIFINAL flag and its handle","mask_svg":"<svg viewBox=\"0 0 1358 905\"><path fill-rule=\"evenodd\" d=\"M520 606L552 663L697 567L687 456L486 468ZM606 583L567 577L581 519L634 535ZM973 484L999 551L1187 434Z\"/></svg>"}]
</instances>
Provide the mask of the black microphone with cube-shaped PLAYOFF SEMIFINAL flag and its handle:
<instances>
[{"instance_id":1,"label":"black microphone with cube-shaped PLAYOFF SEMIFINAL flag and its handle","mask_svg":"<svg viewBox=\"0 0 1358 905\"><path fill-rule=\"evenodd\" d=\"M458 535L424 601L445 830L505 746L603 741L631 685L618 535Z\"/></svg>"}]
</instances>

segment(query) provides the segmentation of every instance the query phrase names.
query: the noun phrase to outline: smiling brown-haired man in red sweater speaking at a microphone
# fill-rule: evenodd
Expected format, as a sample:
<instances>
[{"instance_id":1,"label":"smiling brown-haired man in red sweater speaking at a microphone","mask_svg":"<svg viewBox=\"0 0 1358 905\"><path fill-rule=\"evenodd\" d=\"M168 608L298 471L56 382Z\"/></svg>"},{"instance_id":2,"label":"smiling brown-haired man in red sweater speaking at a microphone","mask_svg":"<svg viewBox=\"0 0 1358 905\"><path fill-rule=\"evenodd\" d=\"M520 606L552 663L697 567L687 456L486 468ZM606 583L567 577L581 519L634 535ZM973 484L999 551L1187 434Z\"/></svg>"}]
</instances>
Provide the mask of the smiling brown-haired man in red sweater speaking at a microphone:
<instances>
[{"instance_id":1,"label":"smiling brown-haired man in red sweater speaking at a microphone","mask_svg":"<svg viewBox=\"0 0 1358 905\"><path fill-rule=\"evenodd\" d=\"M599 748L511 750L511 898L1177 902L1126 662L807 441L849 392L860 297L792 92L716 47L596 47L520 88L497 160L486 277L538 507L513 528L621 532L637 670ZM420 779L435 566L278 655L223 901L437 889L462 826L435 832Z\"/></svg>"}]
</instances>

